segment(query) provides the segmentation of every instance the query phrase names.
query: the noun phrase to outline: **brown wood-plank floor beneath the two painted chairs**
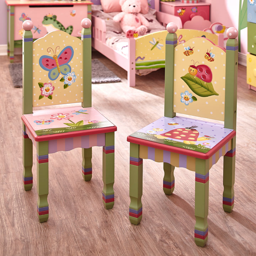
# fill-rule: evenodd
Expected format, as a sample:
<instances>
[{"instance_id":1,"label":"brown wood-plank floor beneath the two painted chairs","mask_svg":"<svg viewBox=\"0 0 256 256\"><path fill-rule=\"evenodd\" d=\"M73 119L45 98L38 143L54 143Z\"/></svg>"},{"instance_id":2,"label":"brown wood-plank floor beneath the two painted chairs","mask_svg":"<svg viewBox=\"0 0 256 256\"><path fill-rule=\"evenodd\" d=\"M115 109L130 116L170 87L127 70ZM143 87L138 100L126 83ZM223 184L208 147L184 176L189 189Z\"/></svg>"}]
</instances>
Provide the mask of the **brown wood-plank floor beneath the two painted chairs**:
<instances>
[{"instance_id":1,"label":"brown wood-plank floor beneath the two painted chairs","mask_svg":"<svg viewBox=\"0 0 256 256\"><path fill-rule=\"evenodd\" d=\"M97 52L99 59L122 82L92 85L93 106L116 124L115 204L102 203L102 148L93 148L93 177L81 174L81 149L49 155L49 219L39 223L37 185L23 190L22 89L15 88L9 59L0 57L0 255L256 255L256 92L246 84L246 68L239 65L235 206L222 209L220 159L210 170L209 239L194 244L194 173L175 169L175 190L162 191L162 164L144 160L143 218L129 222L129 143L127 135L163 115L164 69L137 76L128 87L127 73ZM21 56L15 56L21 62ZM34 156L36 151L34 150Z\"/></svg>"}]
</instances>

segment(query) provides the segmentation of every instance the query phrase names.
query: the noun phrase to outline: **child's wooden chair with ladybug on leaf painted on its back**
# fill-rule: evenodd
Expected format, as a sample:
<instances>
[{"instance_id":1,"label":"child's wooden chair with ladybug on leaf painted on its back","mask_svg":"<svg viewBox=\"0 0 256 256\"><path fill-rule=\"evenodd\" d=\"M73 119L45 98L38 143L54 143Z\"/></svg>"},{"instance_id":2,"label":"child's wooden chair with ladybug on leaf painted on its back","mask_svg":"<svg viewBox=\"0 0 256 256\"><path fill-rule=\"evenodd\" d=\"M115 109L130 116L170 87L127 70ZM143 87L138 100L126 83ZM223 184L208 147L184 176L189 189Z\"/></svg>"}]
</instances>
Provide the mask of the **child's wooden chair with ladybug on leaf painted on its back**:
<instances>
[{"instance_id":1,"label":"child's wooden chair with ladybug on leaf painted on its back","mask_svg":"<svg viewBox=\"0 0 256 256\"><path fill-rule=\"evenodd\" d=\"M142 219L143 159L164 162L163 190L174 191L174 168L195 172L194 240L208 239L209 169L224 155L223 209L234 207L238 31L229 28L226 51L203 37L177 45L177 26L167 25L164 117L128 136L130 142L129 219ZM186 50L184 48L190 47ZM209 58L210 54L213 53ZM176 112L190 117L176 116ZM204 117L224 121L213 123ZM215 121L216 122L216 121Z\"/></svg>"}]
</instances>

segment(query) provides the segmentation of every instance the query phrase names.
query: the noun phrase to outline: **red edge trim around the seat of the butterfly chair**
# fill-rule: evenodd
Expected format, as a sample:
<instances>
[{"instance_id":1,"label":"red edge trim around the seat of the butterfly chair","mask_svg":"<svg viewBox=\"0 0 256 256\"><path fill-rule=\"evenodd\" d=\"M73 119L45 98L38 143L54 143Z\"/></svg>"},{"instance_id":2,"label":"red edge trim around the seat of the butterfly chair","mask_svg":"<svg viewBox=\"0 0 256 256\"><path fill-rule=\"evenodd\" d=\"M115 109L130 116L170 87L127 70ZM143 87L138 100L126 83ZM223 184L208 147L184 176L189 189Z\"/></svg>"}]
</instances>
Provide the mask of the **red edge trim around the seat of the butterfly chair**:
<instances>
[{"instance_id":1,"label":"red edge trim around the seat of the butterfly chair","mask_svg":"<svg viewBox=\"0 0 256 256\"><path fill-rule=\"evenodd\" d=\"M117 130L116 126L110 126L110 127L102 127L102 128L89 129L89 130L81 130L76 132L67 132L67 133L60 133L60 134L38 136L35 133L34 129L31 127L30 123L27 121L27 119L24 118L23 116L21 117L21 119L36 142L42 142L42 141L54 140L54 139L66 139L66 138L100 134L100 133L109 133L109 132L115 132Z\"/></svg>"}]
</instances>

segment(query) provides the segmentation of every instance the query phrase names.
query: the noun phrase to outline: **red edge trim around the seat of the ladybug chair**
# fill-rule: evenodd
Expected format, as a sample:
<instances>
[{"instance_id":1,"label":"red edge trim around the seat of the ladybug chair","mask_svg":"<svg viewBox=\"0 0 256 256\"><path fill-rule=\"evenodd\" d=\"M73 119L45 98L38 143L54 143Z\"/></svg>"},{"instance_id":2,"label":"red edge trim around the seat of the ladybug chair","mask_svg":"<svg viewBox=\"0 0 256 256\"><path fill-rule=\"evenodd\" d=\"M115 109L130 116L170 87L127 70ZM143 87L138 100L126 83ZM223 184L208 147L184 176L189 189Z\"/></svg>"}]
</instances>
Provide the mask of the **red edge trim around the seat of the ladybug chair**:
<instances>
[{"instance_id":1,"label":"red edge trim around the seat of the ladybug chair","mask_svg":"<svg viewBox=\"0 0 256 256\"><path fill-rule=\"evenodd\" d=\"M139 139L135 137L128 136L127 141L143 146L149 146L151 148L161 149L165 151L174 152L177 154L192 156L195 158L200 159L209 159L212 155L214 155L218 150L220 150L226 143L228 143L232 138L234 138L236 135L236 132L231 132L227 137L225 137L223 140L221 140L217 145L215 145L210 151L207 153L202 152L196 152L189 149L182 149L175 146L165 145L157 142L151 142L149 140Z\"/></svg>"}]
</instances>

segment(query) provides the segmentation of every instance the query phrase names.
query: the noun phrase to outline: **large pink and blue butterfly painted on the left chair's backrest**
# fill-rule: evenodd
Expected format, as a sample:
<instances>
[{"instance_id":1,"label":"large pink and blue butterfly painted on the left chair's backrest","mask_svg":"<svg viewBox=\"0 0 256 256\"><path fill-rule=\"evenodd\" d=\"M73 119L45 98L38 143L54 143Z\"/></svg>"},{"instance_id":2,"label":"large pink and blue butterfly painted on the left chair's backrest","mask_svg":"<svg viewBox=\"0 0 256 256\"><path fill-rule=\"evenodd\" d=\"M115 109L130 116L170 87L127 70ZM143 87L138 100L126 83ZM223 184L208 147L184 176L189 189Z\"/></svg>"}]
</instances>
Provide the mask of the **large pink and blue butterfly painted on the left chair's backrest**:
<instances>
[{"instance_id":1,"label":"large pink and blue butterfly painted on the left chair's backrest","mask_svg":"<svg viewBox=\"0 0 256 256\"><path fill-rule=\"evenodd\" d=\"M74 50L71 46L66 46L60 54L57 56L56 50L60 48L57 46L55 52L52 48L48 48L47 52L53 51L53 57L48 55L43 55L39 59L39 65L42 69L49 71L48 77L50 80L56 80L59 74L66 75L66 73L71 71L71 67L68 64L73 58Z\"/></svg>"}]
</instances>

